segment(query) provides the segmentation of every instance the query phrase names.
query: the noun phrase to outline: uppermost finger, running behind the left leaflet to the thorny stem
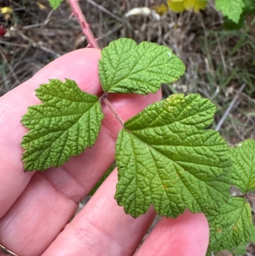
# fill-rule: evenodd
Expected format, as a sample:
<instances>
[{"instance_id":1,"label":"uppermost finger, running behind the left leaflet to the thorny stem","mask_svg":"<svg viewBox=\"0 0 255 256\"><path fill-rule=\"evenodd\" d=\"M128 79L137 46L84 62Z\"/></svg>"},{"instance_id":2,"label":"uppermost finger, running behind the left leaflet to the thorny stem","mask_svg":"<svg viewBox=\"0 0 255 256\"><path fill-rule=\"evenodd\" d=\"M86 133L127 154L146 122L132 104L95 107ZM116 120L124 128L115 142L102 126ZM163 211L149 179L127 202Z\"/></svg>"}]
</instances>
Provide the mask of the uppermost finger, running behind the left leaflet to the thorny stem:
<instances>
[{"instance_id":1,"label":"uppermost finger, running behind the left leaflet to the thorny stem","mask_svg":"<svg viewBox=\"0 0 255 256\"><path fill-rule=\"evenodd\" d=\"M48 64L32 79L16 87L0 99L0 218L24 190L33 173L23 172L20 142L27 129L20 123L29 105L40 103L34 89L48 79L70 78L88 93L100 93L98 78L99 50L71 52Z\"/></svg>"}]
</instances>

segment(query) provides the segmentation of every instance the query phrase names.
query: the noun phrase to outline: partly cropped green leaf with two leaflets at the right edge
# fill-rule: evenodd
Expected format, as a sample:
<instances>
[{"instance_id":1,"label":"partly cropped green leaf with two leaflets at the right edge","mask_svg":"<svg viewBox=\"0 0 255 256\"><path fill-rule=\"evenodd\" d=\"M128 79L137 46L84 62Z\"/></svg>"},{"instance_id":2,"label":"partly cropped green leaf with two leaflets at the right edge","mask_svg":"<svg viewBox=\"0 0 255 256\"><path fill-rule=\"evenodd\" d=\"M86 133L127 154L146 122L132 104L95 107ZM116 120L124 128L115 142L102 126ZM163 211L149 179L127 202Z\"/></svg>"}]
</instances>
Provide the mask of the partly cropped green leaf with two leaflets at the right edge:
<instances>
[{"instance_id":1,"label":"partly cropped green leaf with two leaflets at the right edge","mask_svg":"<svg viewBox=\"0 0 255 256\"><path fill-rule=\"evenodd\" d=\"M247 192L255 189L255 141L246 140L230 149L233 163L232 183L243 197L232 197L219 209L206 213L210 224L210 248L231 249L251 239L251 207L245 200Z\"/></svg>"}]
</instances>

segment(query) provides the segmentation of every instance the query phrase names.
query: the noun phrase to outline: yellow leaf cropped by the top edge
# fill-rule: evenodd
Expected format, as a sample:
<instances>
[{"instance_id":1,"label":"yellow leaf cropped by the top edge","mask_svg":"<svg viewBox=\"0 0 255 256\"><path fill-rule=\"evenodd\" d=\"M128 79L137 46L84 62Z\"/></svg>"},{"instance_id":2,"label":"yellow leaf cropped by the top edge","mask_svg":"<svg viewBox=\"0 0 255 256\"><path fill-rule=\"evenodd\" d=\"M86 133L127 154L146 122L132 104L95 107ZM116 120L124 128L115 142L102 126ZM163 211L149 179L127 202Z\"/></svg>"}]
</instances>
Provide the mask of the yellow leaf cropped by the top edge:
<instances>
[{"instance_id":1,"label":"yellow leaf cropped by the top edge","mask_svg":"<svg viewBox=\"0 0 255 256\"><path fill-rule=\"evenodd\" d=\"M168 6L172 11L182 12L205 10L207 8L207 0L167 0Z\"/></svg>"}]
</instances>

